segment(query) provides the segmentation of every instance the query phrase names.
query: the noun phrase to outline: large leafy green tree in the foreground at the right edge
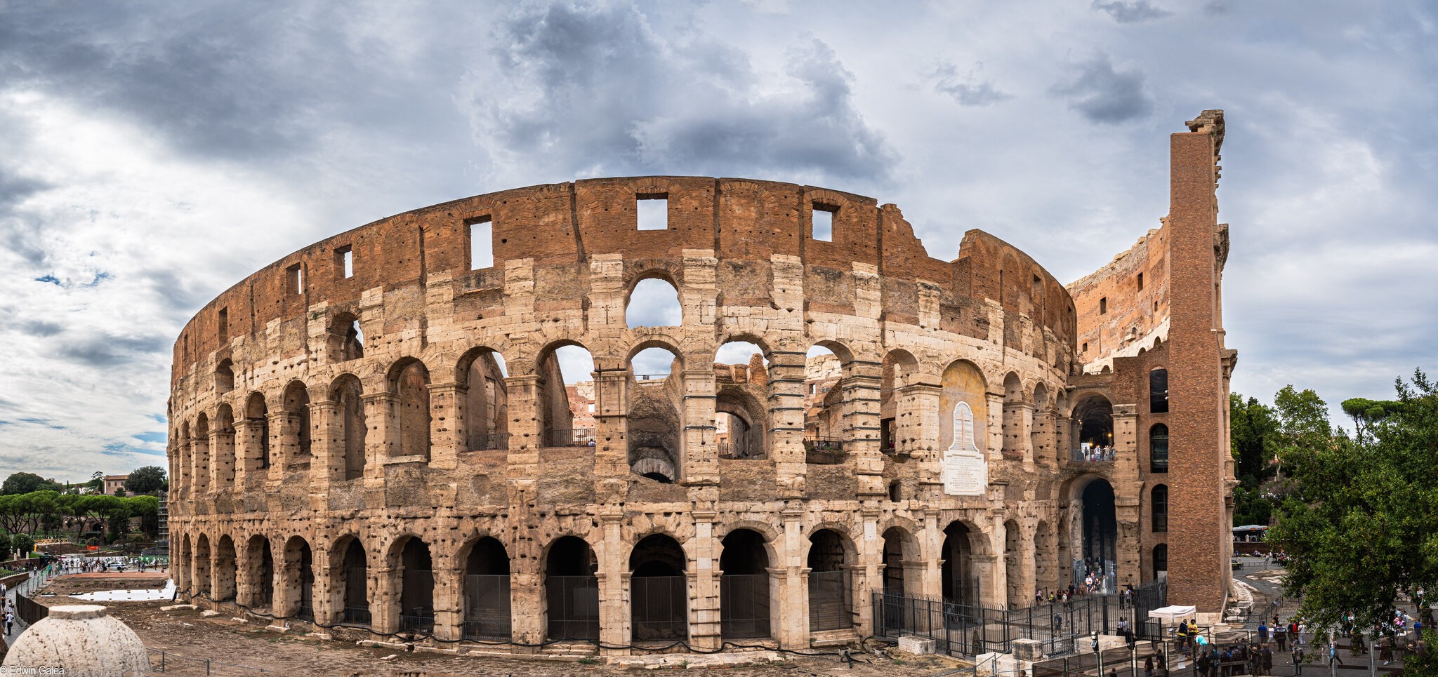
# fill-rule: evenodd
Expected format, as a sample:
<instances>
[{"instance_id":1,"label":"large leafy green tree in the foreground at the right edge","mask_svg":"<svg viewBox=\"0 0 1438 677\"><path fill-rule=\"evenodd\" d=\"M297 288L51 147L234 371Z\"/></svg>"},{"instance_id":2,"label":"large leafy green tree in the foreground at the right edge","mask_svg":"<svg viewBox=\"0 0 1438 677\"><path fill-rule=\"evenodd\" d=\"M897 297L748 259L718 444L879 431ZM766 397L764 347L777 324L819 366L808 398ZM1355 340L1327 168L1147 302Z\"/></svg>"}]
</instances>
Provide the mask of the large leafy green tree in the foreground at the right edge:
<instances>
[{"instance_id":1,"label":"large leafy green tree in the foreground at the right edge","mask_svg":"<svg viewBox=\"0 0 1438 677\"><path fill-rule=\"evenodd\" d=\"M1402 407L1355 438L1334 434L1313 391L1276 398L1296 489L1268 540L1293 555L1284 588L1313 625L1352 612L1372 627L1401 595L1438 589L1438 388L1415 371L1396 390Z\"/></svg>"}]
</instances>

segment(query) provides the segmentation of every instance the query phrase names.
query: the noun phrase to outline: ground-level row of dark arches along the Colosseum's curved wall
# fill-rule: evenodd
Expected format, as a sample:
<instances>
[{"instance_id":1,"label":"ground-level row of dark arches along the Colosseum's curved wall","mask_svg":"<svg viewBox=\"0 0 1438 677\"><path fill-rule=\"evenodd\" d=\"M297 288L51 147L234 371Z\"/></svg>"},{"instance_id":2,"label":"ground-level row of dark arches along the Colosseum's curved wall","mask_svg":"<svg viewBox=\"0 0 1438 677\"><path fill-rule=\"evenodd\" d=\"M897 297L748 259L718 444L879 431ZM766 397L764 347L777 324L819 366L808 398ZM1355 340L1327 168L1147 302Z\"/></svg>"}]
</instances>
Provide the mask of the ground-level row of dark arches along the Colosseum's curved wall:
<instances>
[{"instance_id":1,"label":"ground-level row of dark arches along the Colosseum's curved wall","mask_svg":"<svg viewBox=\"0 0 1438 677\"><path fill-rule=\"evenodd\" d=\"M1025 559L1037 558L1040 584L1058 585L1048 579L1058 574L1055 539L1048 523L1040 522L1035 552L1017 522L1009 520L1005 529L1007 597L1011 605L1024 605L1032 591L1015 581L1025 576ZM719 539L719 608L710 611L718 611L723 638L745 640L775 638L781 618L794 614L807 617L808 630L815 632L856 628L864 589L881 589L893 598L938 594L956 607L984 604L984 581L997 574L981 563L992 559L989 536L965 520L951 522L940 535L940 549L926 556L920 535L903 525L883 529L874 545L856 540L846 528L820 525L807 535L800 553L802 575L794 579L784 566L788 553L781 535L733 528ZM689 640L690 607L697 599L695 575L702 566L669 533L638 538L620 553L626 588L618 598L623 602L617 602L601 582L603 555L578 535L555 538L536 559L515 558L495 536L470 539L453 553L431 552L431 543L416 535L381 545L354 533L315 545L302 536L183 533L177 548L178 585L188 595L326 625L486 641L513 637L521 622L513 609L522 608L523 595L531 592L542 602L538 627L544 640L600 640L600 611L607 604L624 605L626 641ZM861 548L877 548L880 578L867 586L857 581L867 559ZM536 578L522 579L538 586L512 586L510 576L525 574L515 566L536 566ZM801 586L802 608L781 608L795 599L785 594L788 585Z\"/></svg>"}]
</instances>

